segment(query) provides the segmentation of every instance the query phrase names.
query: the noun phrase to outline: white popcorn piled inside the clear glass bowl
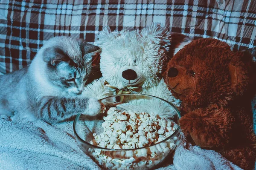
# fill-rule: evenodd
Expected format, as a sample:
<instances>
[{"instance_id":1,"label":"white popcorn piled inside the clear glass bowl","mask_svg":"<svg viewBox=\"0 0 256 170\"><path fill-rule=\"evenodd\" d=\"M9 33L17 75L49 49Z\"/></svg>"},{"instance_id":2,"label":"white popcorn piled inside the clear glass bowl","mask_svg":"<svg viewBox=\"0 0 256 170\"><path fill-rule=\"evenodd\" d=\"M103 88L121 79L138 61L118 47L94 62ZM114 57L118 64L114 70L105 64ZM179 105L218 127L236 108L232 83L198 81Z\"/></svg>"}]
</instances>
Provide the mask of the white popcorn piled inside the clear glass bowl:
<instances>
[{"instance_id":1,"label":"white popcorn piled inside the clear glass bowl","mask_svg":"<svg viewBox=\"0 0 256 170\"><path fill-rule=\"evenodd\" d=\"M168 141L169 143L156 144L172 135L176 124L154 113L119 111L116 107L111 107L103 119L104 131L101 134L93 133L94 139L90 144L117 150L140 148L113 153L90 148L89 152L99 165L107 169L150 169L160 163L176 146L174 140L177 141L177 137ZM152 144L156 145L144 148Z\"/></svg>"}]
</instances>

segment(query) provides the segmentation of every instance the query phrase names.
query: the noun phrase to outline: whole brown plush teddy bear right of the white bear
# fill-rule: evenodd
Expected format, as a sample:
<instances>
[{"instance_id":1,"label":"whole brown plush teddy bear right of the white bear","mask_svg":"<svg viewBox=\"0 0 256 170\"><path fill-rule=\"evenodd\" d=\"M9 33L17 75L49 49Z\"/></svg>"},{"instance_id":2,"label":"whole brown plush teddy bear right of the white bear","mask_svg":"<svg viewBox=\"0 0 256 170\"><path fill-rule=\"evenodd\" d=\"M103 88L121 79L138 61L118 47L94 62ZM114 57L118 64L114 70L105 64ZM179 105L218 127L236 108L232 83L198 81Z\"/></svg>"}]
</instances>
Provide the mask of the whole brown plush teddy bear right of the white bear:
<instances>
[{"instance_id":1,"label":"whole brown plush teddy bear right of the white bear","mask_svg":"<svg viewBox=\"0 0 256 170\"><path fill-rule=\"evenodd\" d=\"M187 140L253 169L256 136L244 58L220 40L193 40L169 61L166 84L183 103L180 126Z\"/></svg>"}]
</instances>

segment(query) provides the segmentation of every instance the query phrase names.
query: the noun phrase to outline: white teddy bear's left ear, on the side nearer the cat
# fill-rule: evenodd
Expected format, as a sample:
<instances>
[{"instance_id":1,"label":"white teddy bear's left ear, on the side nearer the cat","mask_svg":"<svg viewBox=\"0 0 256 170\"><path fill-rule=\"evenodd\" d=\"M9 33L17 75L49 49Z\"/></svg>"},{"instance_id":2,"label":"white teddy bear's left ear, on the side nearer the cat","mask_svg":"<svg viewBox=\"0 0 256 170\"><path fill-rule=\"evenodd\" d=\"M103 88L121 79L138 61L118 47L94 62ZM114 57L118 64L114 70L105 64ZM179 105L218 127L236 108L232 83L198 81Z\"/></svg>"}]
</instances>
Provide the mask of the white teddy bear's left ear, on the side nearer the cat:
<instances>
[{"instance_id":1,"label":"white teddy bear's left ear, on the side nearer the cat","mask_svg":"<svg viewBox=\"0 0 256 170\"><path fill-rule=\"evenodd\" d=\"M96 42L97 46L107 45L111 40L116 39L121 34L118 31L111 32L109 26L104 26L102 31L99 32L99 40Z\"/></svg>"}]
</instances>

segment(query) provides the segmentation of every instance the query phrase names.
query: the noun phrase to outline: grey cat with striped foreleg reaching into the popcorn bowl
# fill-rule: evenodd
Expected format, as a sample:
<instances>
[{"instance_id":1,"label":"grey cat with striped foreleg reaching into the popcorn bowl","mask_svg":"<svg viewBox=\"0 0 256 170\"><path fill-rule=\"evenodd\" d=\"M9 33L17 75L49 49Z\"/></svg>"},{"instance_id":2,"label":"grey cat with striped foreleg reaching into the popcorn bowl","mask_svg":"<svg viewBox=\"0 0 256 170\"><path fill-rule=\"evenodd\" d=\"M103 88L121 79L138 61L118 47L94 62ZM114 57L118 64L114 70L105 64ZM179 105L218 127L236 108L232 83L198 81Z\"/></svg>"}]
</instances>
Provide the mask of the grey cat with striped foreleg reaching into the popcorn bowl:
<instances>
[{"instance_id":1,"label":"grey cat with striped foreleg reaching into the popcorn bowl","mask_svg":"<svg viewBox=\"0 0 256 170\"><path fill-rule=\"evenodd\" d=\"M99 47L70 37L54 37L28 67L0 76L0 114L12 120L65 121L79 112L96 115L99 101L80 94Z\"/></svg>"}]
</instances>

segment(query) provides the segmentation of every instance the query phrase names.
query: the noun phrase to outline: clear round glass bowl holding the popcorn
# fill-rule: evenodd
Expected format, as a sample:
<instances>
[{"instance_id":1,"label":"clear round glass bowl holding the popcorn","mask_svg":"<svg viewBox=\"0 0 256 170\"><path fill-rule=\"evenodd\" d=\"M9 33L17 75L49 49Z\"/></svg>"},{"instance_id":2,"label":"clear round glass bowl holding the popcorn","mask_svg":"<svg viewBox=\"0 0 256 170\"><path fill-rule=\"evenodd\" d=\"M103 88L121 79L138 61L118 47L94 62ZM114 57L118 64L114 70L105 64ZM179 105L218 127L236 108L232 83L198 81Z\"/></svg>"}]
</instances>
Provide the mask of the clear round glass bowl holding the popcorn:
<instances>
[{"instance_id":1,"label":"clear round glass bowl holding the popcorn","mask_svg":"<svg viewBox=\"0 0 256 170\"><path fill-rule=\"evenodd\" d=\"M172 158L172 153L181 137L180 112L175 105L161 98L143 94L115 95L99 101L107 108L116 107L122 111L154 112L156 115L168 117L177 125L172 135L150 146L136 149L107 149L90 144L90 141L94 139L93 133L103 132L102 123L105 121L103 116L106 112L95 117L78 114L73 124L76 141L84 153L93 158L103 169L148 170Z\"/></svg>"}]
</instances>

